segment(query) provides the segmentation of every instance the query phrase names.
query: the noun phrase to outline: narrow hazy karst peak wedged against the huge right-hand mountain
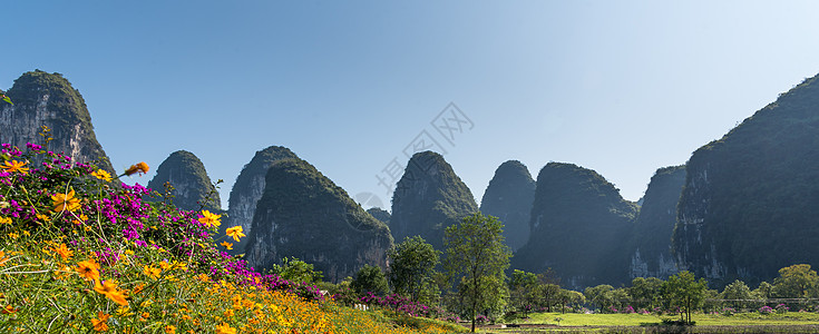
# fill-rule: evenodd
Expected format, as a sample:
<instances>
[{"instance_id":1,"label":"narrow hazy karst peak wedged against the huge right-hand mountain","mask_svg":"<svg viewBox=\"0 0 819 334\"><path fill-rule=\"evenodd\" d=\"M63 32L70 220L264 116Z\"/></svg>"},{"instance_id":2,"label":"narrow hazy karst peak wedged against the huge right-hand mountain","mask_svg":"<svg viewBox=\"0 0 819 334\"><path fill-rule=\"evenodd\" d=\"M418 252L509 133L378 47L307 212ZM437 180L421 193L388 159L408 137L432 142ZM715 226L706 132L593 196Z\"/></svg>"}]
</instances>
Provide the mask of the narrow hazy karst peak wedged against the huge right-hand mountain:
<instances>
[{"instance_id":1,"label":"narrow hazy karst peak wedged against the huge right-hand mountain","mask_svg":"<svg viewBox=\"0 0 819 334\"><path fill-rule=\"evenodd\" d=\"M643 206L634 220L631 277L667 278L677 273L671 254L676 204L685 183L685 166L660 168L651 178Z\"/></svg>"}]
</instances>

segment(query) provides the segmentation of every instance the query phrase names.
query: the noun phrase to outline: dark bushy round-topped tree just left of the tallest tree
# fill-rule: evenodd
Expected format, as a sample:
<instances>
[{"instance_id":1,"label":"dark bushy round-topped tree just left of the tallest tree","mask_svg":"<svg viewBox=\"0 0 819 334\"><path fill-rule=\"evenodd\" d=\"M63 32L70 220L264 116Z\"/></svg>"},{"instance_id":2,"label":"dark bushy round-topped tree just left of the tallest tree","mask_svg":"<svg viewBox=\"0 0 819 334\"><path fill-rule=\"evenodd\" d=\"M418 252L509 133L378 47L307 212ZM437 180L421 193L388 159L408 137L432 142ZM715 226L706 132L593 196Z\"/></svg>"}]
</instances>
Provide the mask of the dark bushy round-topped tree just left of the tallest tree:
<instances>
[{"instance_id":1,"label":"dark bushy round-topped tree just left of the tallest tree","mask_svg":"<svg viewBox=\"0 0 819 334\"><path fill-rule=\"evenodd\" d=\"M388 250L388 277L393 292L409 296L413 302L428 302L437 297L438 287L433 276L438 253L420 236L407 237Z\"/></svg>"}]
</instances>

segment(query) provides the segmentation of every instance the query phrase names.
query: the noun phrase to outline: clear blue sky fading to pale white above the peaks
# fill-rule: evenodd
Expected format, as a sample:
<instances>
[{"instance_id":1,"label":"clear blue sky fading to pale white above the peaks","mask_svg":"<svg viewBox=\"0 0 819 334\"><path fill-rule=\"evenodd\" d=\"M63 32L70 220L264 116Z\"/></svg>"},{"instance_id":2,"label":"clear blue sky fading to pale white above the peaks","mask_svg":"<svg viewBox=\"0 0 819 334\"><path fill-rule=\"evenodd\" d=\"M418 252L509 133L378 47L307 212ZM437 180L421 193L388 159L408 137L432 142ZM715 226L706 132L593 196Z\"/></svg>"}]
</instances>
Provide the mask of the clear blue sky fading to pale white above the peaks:
<instances>
[{"instance_id":1,"label":"clear blue sky fading to pale white above the peaks","mask_svg":"<svg viewBox=\"0 0 819 334\"><path fill-rule=\"evenodd\" d=\"M574 163L636 200L657 168L684 164L819 72L816 1L0 8L0 88L33 69L62 73L116 168L189 150L225 180L225 207L242 167L271 145L389 206L377 176L389 180L393 158L406 165L419 135L438 141L478 202L508 159L533 177ZM437 117L450 102L468 121L445 140Z\"/></svg>"}]
</instances>

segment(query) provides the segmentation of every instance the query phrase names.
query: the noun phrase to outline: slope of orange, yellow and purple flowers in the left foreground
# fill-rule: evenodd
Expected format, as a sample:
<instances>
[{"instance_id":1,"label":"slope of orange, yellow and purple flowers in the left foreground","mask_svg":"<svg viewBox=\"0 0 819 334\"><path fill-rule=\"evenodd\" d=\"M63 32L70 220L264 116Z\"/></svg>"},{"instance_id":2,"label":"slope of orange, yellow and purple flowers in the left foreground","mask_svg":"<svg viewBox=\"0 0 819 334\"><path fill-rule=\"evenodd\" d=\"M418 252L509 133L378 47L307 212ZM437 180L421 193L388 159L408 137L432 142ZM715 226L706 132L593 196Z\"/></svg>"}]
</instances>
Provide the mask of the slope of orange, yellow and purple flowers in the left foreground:
<instances>
[{"instance_id":1,"label":"slope of orange, yellow and purple flowers in the left foreground","mask_svg":"<svg viewBox=\"0 0 819 334\"><path fill-rule=\"evenodd\" d=\"M119 177L144 174L144 163ZM94 165L2 145L0 333L447 333L357 311L218 252L221 216L148 203ZM400 323L410 323L404 326Z\"/></svg>"}]
</instances>

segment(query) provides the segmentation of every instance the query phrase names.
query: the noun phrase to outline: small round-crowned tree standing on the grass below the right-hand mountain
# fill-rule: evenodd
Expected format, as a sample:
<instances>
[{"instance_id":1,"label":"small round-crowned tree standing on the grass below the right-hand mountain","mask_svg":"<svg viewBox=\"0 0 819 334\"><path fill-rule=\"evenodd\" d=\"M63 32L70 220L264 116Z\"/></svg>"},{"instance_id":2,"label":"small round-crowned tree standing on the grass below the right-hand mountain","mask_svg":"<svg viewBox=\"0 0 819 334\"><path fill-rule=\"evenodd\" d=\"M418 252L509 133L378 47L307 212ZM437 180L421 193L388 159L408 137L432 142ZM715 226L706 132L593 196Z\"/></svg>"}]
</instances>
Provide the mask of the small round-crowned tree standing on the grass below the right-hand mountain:
<instances>
[{"instance_id":1,"label":"small round-crowned tree standing on the grass below the right-hand mountain","mask_svg":"<svg viewBox=\"0 0 819 334\"><path fill-rule=\"evenodd\" d=\"M705 278L695 279L689 271L669 277L663 284L663 295L671 306L680 307L680 320L691 324L691 312L705 299L708 282ZM683 317L684 316L684 317Z\"/></svg>"}]
</instances>

